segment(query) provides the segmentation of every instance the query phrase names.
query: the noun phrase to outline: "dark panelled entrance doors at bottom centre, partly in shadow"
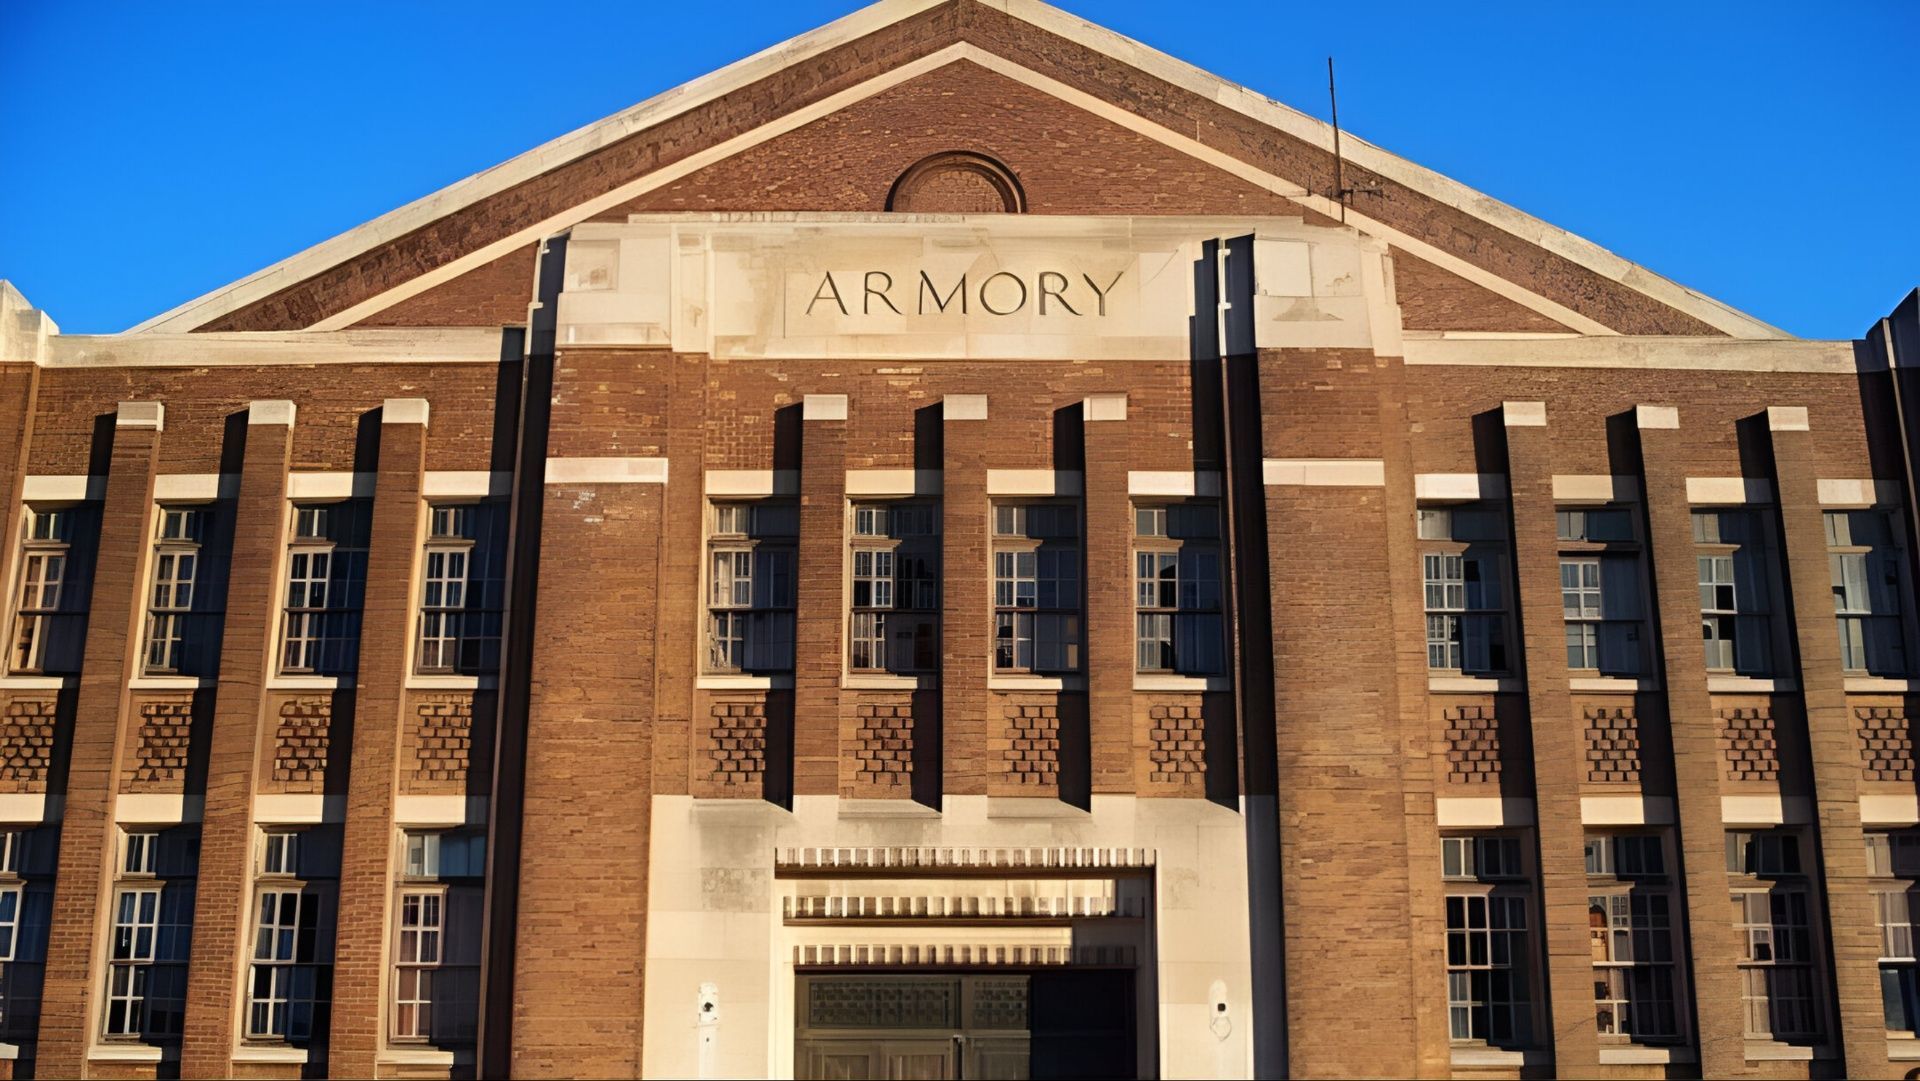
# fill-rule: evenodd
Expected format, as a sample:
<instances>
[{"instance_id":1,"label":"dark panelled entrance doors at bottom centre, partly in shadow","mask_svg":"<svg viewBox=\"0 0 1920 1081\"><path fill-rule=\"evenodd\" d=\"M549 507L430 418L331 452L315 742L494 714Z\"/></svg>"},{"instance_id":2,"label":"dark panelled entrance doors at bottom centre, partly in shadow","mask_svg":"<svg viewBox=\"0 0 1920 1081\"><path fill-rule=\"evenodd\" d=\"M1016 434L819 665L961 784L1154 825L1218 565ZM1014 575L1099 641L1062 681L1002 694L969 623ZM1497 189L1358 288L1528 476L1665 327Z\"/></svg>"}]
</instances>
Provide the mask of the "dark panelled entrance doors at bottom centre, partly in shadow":
<instances>
[{"instance_id":1,"label":"dark panelled entrance doors at bottom centre, partly in shadow","mask_svg":"<svg viewBox=\"0 0 1920 1081\"><path fill-rule=\"evenodd\" d=\"M1131 970L806 973L795 1012L803 1081L1135 1075Z\"/></svg>"}]
</instances>

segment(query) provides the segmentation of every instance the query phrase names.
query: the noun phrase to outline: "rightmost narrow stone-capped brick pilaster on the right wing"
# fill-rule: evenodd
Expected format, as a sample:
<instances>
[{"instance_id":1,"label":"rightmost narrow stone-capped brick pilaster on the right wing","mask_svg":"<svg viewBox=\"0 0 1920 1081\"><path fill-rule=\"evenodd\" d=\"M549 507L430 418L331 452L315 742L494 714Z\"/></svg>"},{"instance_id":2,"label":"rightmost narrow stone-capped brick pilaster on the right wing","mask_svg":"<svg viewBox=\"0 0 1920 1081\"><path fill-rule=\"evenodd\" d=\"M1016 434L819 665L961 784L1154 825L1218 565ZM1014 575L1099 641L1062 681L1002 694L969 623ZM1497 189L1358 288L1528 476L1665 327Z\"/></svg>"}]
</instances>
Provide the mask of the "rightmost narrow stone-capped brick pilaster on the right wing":
<instances>
[{"instance_id":1,"label":"rightmost narrow stone-capped brick pilaster on the right wing","mask_svg":"<svg viewBox=\"0 0 1920 1081\"><path fill-rule=\"evenodd\" d=\"M1814 806L1820 826L1820 870L1826 876L1828 941L1839 1000L1836 1045L1849 1077L1897 1077L1887 1062L1880 998L1880 933L1866 887L1866 839L1860 831L1860 753L1847 709L1847 684L1834 624L1826 522L1805 409L1766 411L1774 445L1774 492L1780 503L1799 685L1812 753Z\"/></svg>"}]
</instances>

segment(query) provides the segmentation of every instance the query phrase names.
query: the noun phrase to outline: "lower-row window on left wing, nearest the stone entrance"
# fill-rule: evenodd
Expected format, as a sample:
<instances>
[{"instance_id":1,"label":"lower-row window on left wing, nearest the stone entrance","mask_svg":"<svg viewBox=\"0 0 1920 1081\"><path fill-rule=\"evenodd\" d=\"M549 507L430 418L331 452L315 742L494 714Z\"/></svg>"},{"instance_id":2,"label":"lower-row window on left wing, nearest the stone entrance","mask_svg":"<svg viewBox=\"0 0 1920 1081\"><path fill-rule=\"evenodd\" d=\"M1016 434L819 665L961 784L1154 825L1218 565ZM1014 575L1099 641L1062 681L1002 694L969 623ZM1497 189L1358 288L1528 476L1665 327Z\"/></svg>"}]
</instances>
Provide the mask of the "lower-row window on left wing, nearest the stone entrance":
<instances>
[{"instance_id":1,"label":"lower-row window on left wing, nearest the stone entrance","mask_svg":"<svg viewBox=\"0 0 1920 1081\"><path fill-rule=\"evenodd\" d=\"M480 1008L484 831L401 833L392 1039L472 1043Z\"/></svg>"}]
</instances>

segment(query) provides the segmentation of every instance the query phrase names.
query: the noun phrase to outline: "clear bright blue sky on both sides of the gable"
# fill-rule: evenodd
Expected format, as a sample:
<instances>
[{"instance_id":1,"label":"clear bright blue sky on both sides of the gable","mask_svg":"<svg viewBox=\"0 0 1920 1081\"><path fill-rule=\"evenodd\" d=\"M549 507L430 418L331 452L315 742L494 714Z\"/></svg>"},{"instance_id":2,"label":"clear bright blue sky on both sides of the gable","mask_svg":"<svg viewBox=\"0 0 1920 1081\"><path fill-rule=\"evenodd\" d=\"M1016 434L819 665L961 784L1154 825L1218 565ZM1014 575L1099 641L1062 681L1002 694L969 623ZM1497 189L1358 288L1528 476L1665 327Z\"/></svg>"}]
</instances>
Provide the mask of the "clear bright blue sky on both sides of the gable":
<instances>
[{"instance_id":1,"label":"clear bright blue sky on both sides of the gable","mask_svg":"<svg viewBox=\"0 0 1920 1081\"><path fill-rule=\"evenodd\" d=\"M1795 334L1920 284L1914 0L1064 8ZM127 328L849 0L0 0L0 278ZM1849 209L1851 207L1851 209Z\"/></svg>"}]
</instances>

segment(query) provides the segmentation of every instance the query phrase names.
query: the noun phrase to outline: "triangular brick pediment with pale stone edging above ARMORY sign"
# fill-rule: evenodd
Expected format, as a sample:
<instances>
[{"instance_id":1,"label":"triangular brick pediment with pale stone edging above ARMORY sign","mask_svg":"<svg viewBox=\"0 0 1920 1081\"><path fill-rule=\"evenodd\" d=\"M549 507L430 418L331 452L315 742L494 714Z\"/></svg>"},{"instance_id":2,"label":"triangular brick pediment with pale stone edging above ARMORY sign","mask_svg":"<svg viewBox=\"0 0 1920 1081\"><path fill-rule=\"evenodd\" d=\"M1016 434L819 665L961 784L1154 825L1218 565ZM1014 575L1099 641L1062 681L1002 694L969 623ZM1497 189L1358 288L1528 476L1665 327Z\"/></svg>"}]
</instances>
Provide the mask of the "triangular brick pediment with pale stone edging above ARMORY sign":
<instances>
[{"instance_id":1,"label":"triangular brick pediment with pale stone edging above ARMORY sign","mask_svg":"<svg viewBox=\"0 0 1920 1081\"><path fill-rule=\"evenodd\" d=\"M653 211L874 211L941 150L1029 213L1332 221L1331 129L1033 0L885 0L451 184L136 330L524 319L534 246ZM1344 136L1346 225L1402 259L1409 328L1784 332ZM1404 257L1402 257L1404 255Z\"/></svg>"}]
</instances>

